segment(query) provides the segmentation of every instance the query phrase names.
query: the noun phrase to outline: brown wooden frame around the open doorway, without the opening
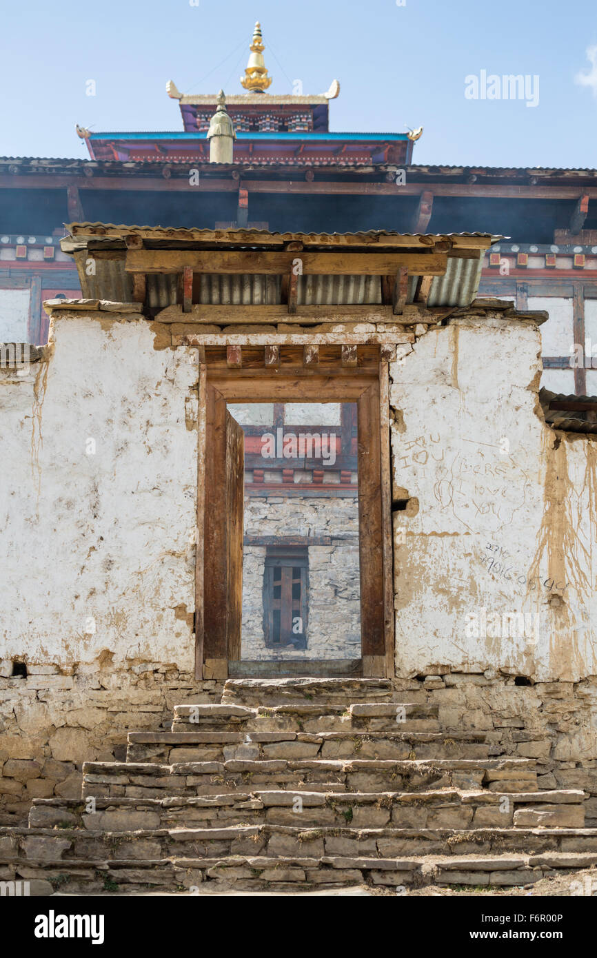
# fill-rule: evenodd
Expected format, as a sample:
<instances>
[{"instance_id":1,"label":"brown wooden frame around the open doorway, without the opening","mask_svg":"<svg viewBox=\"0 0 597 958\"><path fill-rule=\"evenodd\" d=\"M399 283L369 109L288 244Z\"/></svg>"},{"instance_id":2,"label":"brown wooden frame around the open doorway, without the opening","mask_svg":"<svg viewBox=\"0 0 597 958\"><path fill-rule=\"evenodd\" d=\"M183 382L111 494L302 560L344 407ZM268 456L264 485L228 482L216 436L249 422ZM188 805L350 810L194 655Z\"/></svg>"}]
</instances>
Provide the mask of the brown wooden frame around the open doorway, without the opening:
<instances>
[{"instance_id":1,"label":"brown wooden frame around the open doorway, without the opening","mask_svg":"<svg viewBox=\"0 0 597 958\"><path fill-rule=\"evenodd\" d=\"M210 368L200 364L197 469L198 541L195 568L195 678L226 678L221 629L218 648L209 630L225 614L225 590L218 585L222 557L213 556L206 528L205 490L215 481L215 402L356 402L358 422L358 530L361 608L361 667L364 677L394 674L394 590L389 385L387 362L367 370L256 370ZM220 437L221 440L221 437ZM208 451L209 450L209 451ZM208 519L209 526L209 519ZM214 652L216 654L214 654Z\"/></svg>"}]
</instances>

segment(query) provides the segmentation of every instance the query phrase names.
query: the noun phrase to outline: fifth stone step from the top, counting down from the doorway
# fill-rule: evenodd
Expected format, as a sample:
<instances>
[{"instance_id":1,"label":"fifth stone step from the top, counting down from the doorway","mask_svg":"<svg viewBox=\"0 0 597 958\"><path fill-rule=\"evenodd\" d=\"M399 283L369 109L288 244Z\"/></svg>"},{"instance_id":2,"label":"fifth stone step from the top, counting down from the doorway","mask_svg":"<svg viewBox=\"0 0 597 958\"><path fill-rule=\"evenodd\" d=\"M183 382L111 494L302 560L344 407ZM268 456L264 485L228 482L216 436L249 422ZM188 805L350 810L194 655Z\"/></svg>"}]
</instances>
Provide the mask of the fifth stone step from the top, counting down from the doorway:
<instances>
[{"instance_id":1,"label":"fifth stone step from the top, counting down from the doorway","mask_svg":"<svg viewBox=\"0 0 597 958\"><path fill-rule=\"evenodd\" d=\"M286 790L235 791L202 797L35 799L31 828L98 832L232 825L303 828L475 829L583 828L585 792L567 789L500 795L456 788L359 793Z\"/></svg>"}]
</instances>

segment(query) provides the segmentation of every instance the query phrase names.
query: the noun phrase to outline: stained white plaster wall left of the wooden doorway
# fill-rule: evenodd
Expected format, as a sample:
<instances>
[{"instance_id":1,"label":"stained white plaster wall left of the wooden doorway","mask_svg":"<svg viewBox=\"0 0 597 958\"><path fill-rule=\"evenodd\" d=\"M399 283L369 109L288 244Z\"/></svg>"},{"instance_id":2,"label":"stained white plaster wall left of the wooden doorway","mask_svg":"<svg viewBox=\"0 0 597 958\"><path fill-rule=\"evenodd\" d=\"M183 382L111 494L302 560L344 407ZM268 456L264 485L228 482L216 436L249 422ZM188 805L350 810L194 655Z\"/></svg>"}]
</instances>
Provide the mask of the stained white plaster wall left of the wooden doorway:
<instances>
[{"instance_id":1,"label":"stained white plaster wall left of the wooden doorway","mask_svg":"<svg viewBox=\"0 0 597 958\"><path fill-rule=\"evenodd\" d=\"M0 380L0 657L189 671L196 351L97 316L58 319L51 360Z\"/></svg>"}]
</instances>

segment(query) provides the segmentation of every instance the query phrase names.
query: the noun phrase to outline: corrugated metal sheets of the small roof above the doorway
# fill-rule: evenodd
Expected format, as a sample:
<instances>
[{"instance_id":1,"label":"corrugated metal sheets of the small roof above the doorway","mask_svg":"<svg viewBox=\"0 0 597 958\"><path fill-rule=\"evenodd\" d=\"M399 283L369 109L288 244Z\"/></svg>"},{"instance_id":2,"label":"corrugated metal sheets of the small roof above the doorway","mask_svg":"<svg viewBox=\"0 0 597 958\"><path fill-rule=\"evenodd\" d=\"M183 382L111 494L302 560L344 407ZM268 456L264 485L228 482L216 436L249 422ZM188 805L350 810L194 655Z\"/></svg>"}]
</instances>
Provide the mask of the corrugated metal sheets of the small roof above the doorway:
<instances>
[{"instance_id":1,"label":"corrugated metal sheets of the small roof above the doorway","mask_svg":"<svg viewBox=\"0 0 597 958\"><path fill-rule=\"evenodd\" d=\"M65 251L75 254L79 267L83 296L90 299L108 299L130 302L132 284L126 273L125 238L131 235L145 241L147 248L189 248L189 243L200 242L203 248L237 247L260 248L282 246L295 242L303 247L321 247L353 250L359 247L368 252L381 248L399 250L429 250L440 245L450 251L444 276L432 280L427 306L467 307L476 296L482 268L483 251L498 237L488 233L459 234L401 234L395 231L370 230L362 233L272 233L268 230L205 230L170 229L161 226L128 226L110 223L72 223L67 227L70 237L61 241ZM89 246L89 243L92 243ZM84 263L93 250L111 248L122 250L114 259L97 258L96 273L87 276ZM459 251L462 256L459 256ZM297 256L300 253L297 251ZM411 275L408 284L407 302L416 296L418 277ZM206 305L277 305L282 304L282 280L279 275L258 274L200 274L198 302ZM196 285L195 285L196 295ZM149 273L147 275L147 304L150 308L165 308L175 305L180 299L175 273ZM321 274L298 277L297 302L300 306L350 306L379 305L382 303L381 278L368 275L366 270L359 275Z\"/></svg>"}]
</instances>

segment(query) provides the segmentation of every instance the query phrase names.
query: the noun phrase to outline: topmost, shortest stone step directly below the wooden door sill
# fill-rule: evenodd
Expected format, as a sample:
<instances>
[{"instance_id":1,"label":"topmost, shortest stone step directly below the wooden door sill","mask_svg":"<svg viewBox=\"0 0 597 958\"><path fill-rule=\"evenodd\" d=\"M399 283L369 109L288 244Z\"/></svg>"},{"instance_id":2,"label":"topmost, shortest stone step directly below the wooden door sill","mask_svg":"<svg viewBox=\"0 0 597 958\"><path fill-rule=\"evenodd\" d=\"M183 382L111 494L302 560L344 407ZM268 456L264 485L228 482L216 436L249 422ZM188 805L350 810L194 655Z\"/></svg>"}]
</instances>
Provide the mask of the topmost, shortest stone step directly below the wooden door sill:
<instances>
[{"instance_id":1,"label":"topmost, shortest stone step directly below the wooden door sill","mask_svg":"<svg viewBox=\"0 0 597 958\"><path fill-rule=\"evenodd\" d=\"M339 705L391 701L393 695L387 678L229 678L221 701L223 705Z\"/></svg>"}]
</instances>

